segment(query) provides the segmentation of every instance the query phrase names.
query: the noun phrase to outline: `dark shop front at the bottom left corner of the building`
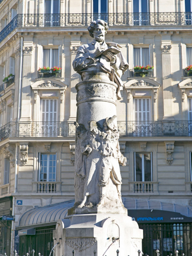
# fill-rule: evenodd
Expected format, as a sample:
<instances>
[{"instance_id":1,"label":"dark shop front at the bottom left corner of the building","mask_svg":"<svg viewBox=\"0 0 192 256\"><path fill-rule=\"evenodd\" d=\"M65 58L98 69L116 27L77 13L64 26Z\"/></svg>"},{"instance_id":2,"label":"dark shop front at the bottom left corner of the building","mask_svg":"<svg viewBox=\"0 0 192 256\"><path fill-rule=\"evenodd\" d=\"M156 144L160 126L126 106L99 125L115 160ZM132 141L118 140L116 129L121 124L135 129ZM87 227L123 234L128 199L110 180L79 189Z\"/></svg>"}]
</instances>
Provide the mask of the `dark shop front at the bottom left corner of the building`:
<instances>
[{"instance_id":1,"label":"dark shop front at the bottom left corner of the building","mask_svg":"<svg viewBox=\"0 0 192 256\"><path fill-rule=\"evenodd\" d=\"M12 197L0 199L0 256L10 256L12 204Z\"/></svg>"}]
</instances>

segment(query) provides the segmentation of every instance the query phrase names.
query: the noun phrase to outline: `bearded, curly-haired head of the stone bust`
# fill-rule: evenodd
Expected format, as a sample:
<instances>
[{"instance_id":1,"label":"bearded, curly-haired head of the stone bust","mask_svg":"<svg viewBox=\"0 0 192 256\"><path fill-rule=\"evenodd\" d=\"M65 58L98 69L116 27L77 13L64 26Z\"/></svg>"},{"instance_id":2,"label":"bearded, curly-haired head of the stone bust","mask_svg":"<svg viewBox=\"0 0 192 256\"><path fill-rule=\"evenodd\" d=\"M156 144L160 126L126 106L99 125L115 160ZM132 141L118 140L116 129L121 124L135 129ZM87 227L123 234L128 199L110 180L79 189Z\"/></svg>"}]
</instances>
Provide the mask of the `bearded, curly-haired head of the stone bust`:
<instances>
[{"instance_id":1,"label":"bearded, curly-haired head of the stone bust","mask_svg":"<svg viewBox=\"0 0 192 256\"><path fill-rule=\"evenodd\" d=\"M94 20L88 28L89 35L92 36L96 41L105 41L105 34L108 30L108 25L104 20Z\"/></svg>"}]
</instances>

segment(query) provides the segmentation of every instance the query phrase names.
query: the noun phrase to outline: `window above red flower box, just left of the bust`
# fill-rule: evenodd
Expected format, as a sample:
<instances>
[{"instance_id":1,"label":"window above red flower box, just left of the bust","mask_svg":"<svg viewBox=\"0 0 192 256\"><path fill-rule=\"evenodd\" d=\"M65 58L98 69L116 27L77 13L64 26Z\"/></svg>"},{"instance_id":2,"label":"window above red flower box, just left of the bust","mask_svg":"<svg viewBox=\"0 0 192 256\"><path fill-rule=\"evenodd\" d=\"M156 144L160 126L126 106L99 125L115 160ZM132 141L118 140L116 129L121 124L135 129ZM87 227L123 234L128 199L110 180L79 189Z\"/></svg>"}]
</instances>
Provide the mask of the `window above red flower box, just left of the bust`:
<instances>
[{"instance_id":1,"label":"window above red flower box, just left of the bust","mask_svg":"<svg viewBox=\"0 0 192 256\"><path fill-rule=\"evenodd\" d=\"M44 49L43 50L43 66L59 66L59 49Z\"/></svg>"}]
</instances>

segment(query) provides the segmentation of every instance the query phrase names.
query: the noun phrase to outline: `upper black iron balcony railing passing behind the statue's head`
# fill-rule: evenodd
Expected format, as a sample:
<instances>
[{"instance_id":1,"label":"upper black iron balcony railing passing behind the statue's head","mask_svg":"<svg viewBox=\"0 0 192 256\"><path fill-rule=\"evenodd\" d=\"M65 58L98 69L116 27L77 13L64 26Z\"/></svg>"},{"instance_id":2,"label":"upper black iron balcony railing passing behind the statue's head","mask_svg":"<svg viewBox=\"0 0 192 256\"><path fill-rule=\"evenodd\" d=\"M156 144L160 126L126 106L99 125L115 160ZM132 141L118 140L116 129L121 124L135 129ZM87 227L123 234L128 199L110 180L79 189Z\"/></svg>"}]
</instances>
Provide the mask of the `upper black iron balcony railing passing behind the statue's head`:
<instances>
[{"instance_id":1,"label":"upper black iron balcony railing passing behind the statue's head","mask_svg":"<svg viewBox=\"0 0 192 256\"><path fill-rule=\"evenodd\" d=\"M0 42L15 28L89 26L98 18L108 22L109 26L192 25L192 13L17 14L2 29Z\"/></svg>"}]
</instances>

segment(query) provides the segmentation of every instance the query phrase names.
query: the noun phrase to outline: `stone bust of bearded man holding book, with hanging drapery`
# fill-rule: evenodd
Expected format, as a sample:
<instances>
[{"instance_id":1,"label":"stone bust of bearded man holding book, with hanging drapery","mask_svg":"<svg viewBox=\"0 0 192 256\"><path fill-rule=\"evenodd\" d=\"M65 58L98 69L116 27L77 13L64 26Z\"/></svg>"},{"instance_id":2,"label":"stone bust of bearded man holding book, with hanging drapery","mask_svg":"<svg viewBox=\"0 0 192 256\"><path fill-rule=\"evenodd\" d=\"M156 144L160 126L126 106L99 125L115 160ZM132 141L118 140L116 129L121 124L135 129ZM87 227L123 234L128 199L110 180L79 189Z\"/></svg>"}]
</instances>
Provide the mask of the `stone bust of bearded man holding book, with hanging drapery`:
<instances>
[{"instance_id":1,"label":"stone bust of bearded man holding book, with hanging drapery","mask_svg":"<svg viewBox=\"0 0 192 256\"><path fill-rule=\"evenodd\" d=\"M121 54L119 44L105 42L107 30L108 25L103 20L98 19L90 24L88 31L94 40L78 48L73 67L80 75L86 71L108 73L110 80L118 86L117 99L121 99L120 89L123 87L121 75L129 65Z\"/></svg>"}]
</instances>

